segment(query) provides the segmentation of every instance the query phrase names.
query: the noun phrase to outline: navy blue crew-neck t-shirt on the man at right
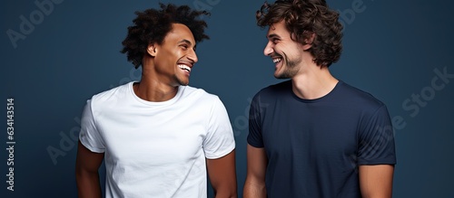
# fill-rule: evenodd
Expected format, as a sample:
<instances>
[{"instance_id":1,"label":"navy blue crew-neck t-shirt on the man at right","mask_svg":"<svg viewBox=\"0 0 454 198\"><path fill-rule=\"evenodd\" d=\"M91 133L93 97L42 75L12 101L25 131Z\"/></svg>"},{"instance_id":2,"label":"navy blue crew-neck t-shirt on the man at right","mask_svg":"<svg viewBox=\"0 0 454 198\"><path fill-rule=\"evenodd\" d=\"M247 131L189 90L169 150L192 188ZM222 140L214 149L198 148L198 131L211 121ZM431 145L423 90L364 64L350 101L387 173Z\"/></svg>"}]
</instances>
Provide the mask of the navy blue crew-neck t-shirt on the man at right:
<instances>
[{"instance_id":1,"label":"navy blue crew-neck t-shirt on the man at right","mask_svg":"<svg viewBox=\"0 0 454 198\"><path fill-rule=\"evenodd\" d=\"M361 197L358 165L396 164L386 106L339 81L320 99L300 99L291 80L252 99L248 144L268 158L268 197Z\"/></svg>"}]
</instances>

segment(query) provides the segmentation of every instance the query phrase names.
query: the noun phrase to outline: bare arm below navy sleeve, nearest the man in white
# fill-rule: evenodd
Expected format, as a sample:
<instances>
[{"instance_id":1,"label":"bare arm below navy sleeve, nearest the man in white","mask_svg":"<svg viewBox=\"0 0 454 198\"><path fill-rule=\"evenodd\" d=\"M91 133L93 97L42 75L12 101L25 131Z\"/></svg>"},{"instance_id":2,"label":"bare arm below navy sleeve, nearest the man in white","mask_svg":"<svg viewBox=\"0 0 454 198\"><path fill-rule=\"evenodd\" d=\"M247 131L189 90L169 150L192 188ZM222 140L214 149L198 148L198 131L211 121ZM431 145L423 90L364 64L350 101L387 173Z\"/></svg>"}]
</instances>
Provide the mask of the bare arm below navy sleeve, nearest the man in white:
<instances>
[{"instance_id":1,"label":"bare arm below navy sleeve, nearest the man in white","mask_svg":"<svg viewBox=\"0 0 454 198\"><path fill-rule=\"evenodd\" d=\"M248 168L242 196L244 198L265 198L265 171L268 159L265 149L248 144Z\"/></svg>"}]
</instances>

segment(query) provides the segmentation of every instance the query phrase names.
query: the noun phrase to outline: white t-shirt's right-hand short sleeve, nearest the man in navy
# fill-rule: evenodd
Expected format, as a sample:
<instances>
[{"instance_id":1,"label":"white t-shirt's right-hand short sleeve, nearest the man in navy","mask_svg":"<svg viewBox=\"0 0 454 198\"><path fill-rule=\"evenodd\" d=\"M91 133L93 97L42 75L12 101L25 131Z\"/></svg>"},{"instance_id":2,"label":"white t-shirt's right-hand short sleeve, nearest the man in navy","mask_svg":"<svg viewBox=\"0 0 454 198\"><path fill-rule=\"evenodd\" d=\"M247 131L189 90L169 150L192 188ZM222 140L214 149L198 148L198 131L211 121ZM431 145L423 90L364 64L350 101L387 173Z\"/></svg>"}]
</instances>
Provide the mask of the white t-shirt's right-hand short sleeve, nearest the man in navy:
<instances>
[{"instance_id":1,"label":"white t-shirt's right-hand short sleeve, nearest the man in navy","mask_svg":"<svg viewBox=\"0 0 454 198\"><path fill-rule=\"evenodd\" d=\"M221 99L216 97L212 104L208 132L203 141L205 156L209 159L220 158L232 152L234 148L235 139L227 110Z\"/></svg>"}]
</instances>

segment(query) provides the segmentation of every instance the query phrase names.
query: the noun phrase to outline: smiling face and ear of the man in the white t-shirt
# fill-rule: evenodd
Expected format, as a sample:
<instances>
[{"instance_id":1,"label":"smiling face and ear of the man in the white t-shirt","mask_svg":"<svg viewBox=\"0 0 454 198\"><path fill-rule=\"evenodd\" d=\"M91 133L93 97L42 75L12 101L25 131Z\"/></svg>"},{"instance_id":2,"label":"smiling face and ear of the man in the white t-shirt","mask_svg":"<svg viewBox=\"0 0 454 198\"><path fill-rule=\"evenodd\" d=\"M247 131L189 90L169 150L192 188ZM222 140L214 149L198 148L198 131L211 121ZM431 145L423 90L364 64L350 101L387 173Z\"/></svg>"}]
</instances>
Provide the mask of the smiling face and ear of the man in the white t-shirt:
<instances>
[{"instance_id":1,"label":"smiling face and ear of the man in the white t-shirt","mask_svg":"<svg viewBox=\"0 0 454 198\"><path fill-rule=\"evenodd\" d=\"M192 66L198 61L195 40L184 24L173 24L162 44L149 45L147 52L154 57L157 80L173 87L188 85Z\"/></svg>"}]
</instances>

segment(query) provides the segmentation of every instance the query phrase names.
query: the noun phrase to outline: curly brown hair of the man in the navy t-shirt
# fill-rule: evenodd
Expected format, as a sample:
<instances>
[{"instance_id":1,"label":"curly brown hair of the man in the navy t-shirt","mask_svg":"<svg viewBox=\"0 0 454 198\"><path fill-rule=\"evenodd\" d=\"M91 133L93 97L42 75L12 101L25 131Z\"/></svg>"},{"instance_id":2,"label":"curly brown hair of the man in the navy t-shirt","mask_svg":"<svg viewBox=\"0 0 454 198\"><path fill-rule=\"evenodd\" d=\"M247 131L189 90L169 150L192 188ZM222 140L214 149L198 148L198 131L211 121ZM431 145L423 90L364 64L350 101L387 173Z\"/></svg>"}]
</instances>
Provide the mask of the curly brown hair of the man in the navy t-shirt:
<instances>
[{"instance_id":1,"label":"curly brown hair of the man in the navy t-shirt","mask_svg":"<svg viewBox=\"0 0 454 198\"><path fill-rule=\"evenodd\" d=\"M272 5L265 2L257 11L256 19L262 28L283 20L291 39L301 44L307 44L314 33L315 39L308 52L321 67L329 67L341 57L339 13L331 10L325 0L279 0Z\"/></svg>"}]
</instances>

